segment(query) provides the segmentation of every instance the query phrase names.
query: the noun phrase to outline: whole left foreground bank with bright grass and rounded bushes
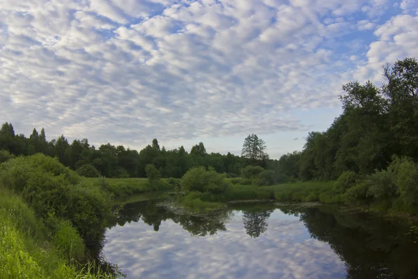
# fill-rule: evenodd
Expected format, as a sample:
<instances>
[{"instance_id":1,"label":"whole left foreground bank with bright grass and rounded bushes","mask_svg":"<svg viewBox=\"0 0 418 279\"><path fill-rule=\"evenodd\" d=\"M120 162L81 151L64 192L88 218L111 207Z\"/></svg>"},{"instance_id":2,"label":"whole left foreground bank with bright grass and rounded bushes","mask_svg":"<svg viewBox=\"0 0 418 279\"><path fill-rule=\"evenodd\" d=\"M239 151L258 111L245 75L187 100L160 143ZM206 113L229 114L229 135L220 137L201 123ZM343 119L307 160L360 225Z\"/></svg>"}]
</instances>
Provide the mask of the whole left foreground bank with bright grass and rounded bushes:
<instances>
[{"instance_id":1,"label":"whole left foreground bank with bright grass and rounded bushes","mask_svg":"<svg viewBox=\"0 0 418 279\"><path fill-rule=\"evenodd\" d=\"M0 165L1 278L115 278L102 272L110 195L36 154Z\"/></svg>"}]
</instances>

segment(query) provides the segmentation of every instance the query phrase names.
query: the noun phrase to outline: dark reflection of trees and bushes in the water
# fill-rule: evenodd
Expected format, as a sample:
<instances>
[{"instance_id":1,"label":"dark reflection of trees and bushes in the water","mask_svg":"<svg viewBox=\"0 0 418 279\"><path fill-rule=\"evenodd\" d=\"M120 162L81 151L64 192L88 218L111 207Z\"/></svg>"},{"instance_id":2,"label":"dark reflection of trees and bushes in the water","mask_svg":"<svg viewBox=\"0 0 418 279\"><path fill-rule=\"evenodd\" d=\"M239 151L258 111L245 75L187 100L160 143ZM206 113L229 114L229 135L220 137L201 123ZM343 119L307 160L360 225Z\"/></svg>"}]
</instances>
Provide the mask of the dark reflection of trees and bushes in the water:
<instances>
[{"instance_id":1,"label":"dark reflection of trees and bushes in the water","mask_svg":"<svg viewBox=\"0 0 418 279\"><path fill-rule=\"evenodd\" d=\"M311 238L329 243L345 262L347 278L418 278L418 244L412 235L405 234L410 225L335 206L234 204L219 211L192 214L157 206L157 202L160 200L126 204L111 227L141 219L158 231L162 222L173 220L193 236L211 236L226 231L235 212L242 215L245 232L256 239L268 232L270 215L279 209L298 216Z\"/></svg>"}]
</instances>

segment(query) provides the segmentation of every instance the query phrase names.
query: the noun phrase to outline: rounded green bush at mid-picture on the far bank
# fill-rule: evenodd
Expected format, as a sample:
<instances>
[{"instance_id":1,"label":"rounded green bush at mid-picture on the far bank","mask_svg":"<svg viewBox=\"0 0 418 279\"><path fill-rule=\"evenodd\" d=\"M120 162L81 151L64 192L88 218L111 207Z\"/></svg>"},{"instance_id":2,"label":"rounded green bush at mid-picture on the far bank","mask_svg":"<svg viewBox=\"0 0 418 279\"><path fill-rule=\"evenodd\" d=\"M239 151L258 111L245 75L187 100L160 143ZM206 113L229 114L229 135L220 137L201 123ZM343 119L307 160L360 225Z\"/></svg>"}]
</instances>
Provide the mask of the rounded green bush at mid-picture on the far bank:
<instances>
[{"instance_id":1,"label":"rounded green bush at mid-picture on the far bank","mask_svg":"<svg viewBox=\"0 0 418 279\"><path fill-rule=\"evenodd\" d=\"M193 167L189 169L181 179L181 188L187 192L222 193L229 186L225 175L218 174L214 169L205 167Z\"/></svg>"}]
</instances>

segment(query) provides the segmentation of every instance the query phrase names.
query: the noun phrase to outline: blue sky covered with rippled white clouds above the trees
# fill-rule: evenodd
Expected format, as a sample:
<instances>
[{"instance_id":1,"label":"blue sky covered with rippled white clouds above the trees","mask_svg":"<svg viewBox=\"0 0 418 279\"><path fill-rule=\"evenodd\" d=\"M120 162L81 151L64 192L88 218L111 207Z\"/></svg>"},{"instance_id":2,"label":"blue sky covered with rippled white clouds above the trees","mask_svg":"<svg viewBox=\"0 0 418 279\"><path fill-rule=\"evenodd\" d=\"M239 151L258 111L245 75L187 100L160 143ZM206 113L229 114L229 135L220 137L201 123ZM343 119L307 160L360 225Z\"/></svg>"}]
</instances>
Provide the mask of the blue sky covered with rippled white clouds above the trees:
<instances>
[{"instance_id":1,"label":"blue sky covered with rippled white clouds above the trees","mask_svg":"<svg viewBox=\"0 0 418 279\"><path fill-rule=\"evenodd\" d=\"M47 138L270 158L341 113L351 81L418 58L415 0L3 0L0 122Z\"/></svg>"}]
</instances>

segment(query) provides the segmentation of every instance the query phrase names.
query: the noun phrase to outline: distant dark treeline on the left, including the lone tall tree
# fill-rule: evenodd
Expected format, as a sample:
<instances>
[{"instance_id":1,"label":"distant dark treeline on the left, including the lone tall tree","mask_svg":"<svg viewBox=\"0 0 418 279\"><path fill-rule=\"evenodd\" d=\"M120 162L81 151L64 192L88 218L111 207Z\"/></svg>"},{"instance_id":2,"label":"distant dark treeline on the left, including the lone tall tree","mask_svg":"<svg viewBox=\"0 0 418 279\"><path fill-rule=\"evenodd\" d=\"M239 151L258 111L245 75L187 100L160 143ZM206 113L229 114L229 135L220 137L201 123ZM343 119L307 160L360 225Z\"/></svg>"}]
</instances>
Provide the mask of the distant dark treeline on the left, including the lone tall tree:
<instances>
[{"instance_id":1,"label":"distant dark treeline on the left, including the lone tall tree","mask_svg":"<svg viewBox=\"0 0 418 279\"><path fill-rule=\"evenodd\" d=\"M47 141L45 129L40 133L33 129L29 137L16 135L11 123L3 123L0 130L0 151L6 150L13 156L31 156L43 153L59 158L63 165L76 170L82 176L109 178L146 177L146 165L153 164L164 178L182 177L192 167L213 167L216 172L226 173L229 177L240 176L241 169L247 165L277 167L275 160L269 160L265 151L265 143L256 135L249 135L243 149L245 156L207 153L202 142L196 144L188 152L183 146L167 150L160 147L155 139L141 151L102 144L99 148L88 143L87 139L74 140L71 143L61 135L58 139ZM256 144L251 146L249 144ZM264 144L264 145L263 145ZM262 147L262 152L259 151ZM251 151L251 148L256 151ZM6 160L6 153L0 152L0 163ZM247 158L248 157L248 158Z\"/></svg>"}]
</instances>

